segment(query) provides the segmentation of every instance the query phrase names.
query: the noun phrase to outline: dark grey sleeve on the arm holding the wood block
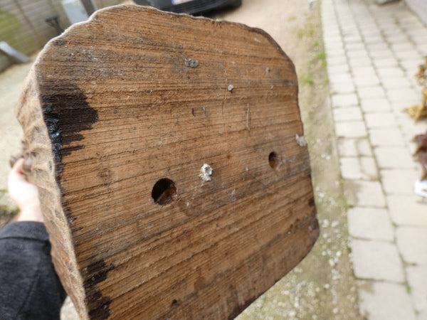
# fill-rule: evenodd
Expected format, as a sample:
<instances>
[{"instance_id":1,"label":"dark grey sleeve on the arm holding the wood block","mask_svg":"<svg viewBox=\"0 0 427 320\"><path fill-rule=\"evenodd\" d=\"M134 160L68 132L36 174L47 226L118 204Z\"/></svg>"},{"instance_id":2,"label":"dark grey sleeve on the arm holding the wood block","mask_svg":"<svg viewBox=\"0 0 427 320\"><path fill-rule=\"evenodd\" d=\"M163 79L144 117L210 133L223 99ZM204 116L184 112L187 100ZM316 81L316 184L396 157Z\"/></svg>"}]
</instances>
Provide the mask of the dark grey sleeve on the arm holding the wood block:
<instances>
[{"instance_id":1,"label":"dark grey sleeve on the arm holding the wood block","mask_svg":"<svg viewBox=\"0 0 427 320\"><path fill-rule=\"evenodd\" d=\"M59 319L65 297L45 225L5 225L0 230L0 319Z\"/></svg>"}]
</instances>

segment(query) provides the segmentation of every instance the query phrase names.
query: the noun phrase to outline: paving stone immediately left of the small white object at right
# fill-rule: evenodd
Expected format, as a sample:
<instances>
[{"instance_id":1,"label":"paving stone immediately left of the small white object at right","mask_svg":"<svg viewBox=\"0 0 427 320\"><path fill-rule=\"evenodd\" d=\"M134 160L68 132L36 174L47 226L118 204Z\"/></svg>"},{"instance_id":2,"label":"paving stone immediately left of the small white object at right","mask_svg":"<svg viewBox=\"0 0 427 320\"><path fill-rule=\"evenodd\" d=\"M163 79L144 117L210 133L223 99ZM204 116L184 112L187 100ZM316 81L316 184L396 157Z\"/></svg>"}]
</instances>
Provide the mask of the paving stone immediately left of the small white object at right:
<instances>
[{"instance_id":1,"label":"paving stone immediately left of the small white object at right","mask_svg":"<svg viewBox=\"0 0 427 320\"><path fill-rule=\"evenodd\" d=\"M386 194L413 194L413 183L419 178L415 169L380 170L382 186Z\"/></svg>"}]
</instances>

